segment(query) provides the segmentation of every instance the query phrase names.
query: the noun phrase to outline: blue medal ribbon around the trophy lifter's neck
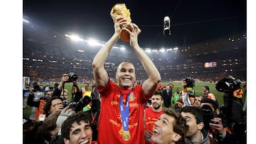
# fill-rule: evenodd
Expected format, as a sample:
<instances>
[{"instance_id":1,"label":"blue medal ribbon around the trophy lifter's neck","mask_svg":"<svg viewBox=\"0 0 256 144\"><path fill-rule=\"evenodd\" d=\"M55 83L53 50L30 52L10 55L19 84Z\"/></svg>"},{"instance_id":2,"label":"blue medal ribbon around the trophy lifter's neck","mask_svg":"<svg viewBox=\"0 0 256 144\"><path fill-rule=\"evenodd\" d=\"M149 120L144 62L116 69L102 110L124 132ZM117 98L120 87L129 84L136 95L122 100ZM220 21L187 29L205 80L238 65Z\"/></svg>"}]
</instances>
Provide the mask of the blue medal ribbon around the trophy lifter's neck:
<instances>
[{"instance_id":1,"label":"blue medal ribbon around the trophy lifter's neck","mask_svg":"<svg viewBox=\"0 0 256 144\"><path fill-rule=\"evenodd\" d=\"M129 94L131 94L131 91L129 92ZM124 128L124 131L128 131L129 130L129 94L127 95L127 101L125 103L125 109L124 109L124 104L123 104L123 100L122 100L122 93L120 91L120 99L119 99L119 110L121 113L121 118L122 118L122 126Z\"/></svg>"}]
</instances>

